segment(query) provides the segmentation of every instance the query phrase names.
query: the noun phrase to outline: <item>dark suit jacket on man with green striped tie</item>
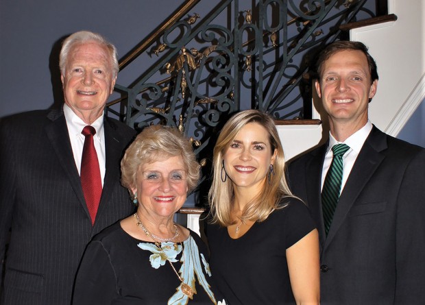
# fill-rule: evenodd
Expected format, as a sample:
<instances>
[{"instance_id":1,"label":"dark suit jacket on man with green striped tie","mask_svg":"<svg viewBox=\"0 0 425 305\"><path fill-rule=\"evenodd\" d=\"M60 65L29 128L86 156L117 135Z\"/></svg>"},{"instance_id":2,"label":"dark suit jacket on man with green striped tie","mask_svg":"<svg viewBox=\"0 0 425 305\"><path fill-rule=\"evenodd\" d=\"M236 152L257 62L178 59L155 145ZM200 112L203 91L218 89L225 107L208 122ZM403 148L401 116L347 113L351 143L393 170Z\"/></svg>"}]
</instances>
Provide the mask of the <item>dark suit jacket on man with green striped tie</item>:
<instances>
[{"instance_id":1,"label":"dark suit jacket on man with green striped tie","mask_svg":"<svg viewBox=\"0 0 425 305\"><path fill-rule=\"evenodd\" d=\"M328 237L321 212L327 144L289 165L321 245L321 304L425 304L425 149L376 127L339 198Z\"/></svg>"}]
</instances>

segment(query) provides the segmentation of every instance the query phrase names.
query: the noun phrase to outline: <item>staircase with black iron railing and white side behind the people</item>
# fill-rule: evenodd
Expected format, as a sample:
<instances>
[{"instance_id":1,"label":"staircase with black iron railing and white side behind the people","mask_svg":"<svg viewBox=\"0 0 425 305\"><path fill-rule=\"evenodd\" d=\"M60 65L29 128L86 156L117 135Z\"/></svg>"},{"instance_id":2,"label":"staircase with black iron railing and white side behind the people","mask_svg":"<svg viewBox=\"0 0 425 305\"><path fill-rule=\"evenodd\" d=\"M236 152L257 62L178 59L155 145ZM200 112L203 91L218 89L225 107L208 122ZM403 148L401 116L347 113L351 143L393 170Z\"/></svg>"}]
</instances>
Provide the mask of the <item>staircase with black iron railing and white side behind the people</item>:
<instances>
[{"instance_id":1,"label":"staircase with black iron railing and white side behind the people","mask_svg":"<svg viewBox=\"0 0 425 305\"><path fill-rule=\"evenodd\" d=\"M258 108L276 117L289 160L326 141L326 116L317 110L306 71L317 49L345 37L364 42L376 58L380 81L370 118L396 136L425 97L424 47L416 39L424 37L424 4L389 0L390 15L377 17L367 8L372 2L324 0L306 8L293 0L254 1L253 7L223 0L199 16L195 5L202 1L188 0L120 60L124 69L140 53L157 58L130 86L116 86L121 98L108 104L107 113L135 129L178 127L192 138L205 180L221 125L232 112ZM216 24L220 18L223 24ZM200 189L208 190L208 183ZM182 209L195 230L202 198L192 195Z\"/></svg>"}]
</instances>

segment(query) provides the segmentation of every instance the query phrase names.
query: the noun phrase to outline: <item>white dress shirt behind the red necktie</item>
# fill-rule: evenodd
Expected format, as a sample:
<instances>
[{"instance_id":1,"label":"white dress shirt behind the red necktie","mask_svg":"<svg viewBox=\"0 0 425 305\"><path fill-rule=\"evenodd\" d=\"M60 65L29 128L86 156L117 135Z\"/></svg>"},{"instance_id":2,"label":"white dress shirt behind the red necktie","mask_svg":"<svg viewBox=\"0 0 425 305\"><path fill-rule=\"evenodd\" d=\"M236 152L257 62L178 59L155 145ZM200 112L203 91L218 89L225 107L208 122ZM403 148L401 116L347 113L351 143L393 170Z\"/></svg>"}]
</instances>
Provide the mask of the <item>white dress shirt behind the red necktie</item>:
<instances>
[{"instance_id":1,"label":"white dress shirt behind the red necktie","mask_svg":"<svg viewBox=\"0 0 425 305\"><path fill-rule=\"evenodd\" d=\"M77 114L69 108L68 105L64 104L64 115L66 119L66 126L68 127L69 139L71 140L71 147L74 155L75 165L77 166L78 173L80 174L81 169L81 158L83 154L84 140L85 137L81 133L83 128L87 126L86 123ZM97 153L97 160L99 160L100 177L102 186L104 186L105 179L105 130L104 130L104 114L102 114L91 126L96 130L93 140L95 142L95 149Z\"/></svg>"}]
</instances>

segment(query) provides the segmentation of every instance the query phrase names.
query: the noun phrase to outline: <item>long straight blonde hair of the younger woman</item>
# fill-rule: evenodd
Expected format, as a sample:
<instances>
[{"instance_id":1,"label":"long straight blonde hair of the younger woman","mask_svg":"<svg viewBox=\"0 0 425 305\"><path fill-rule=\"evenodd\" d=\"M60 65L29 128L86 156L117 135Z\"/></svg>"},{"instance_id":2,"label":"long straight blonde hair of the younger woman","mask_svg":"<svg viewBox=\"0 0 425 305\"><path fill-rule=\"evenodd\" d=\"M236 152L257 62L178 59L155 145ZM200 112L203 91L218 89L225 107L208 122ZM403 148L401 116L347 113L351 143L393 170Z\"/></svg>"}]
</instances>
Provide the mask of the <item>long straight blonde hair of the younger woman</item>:
<instances>
[{"instance_id":1,"label":"long straight blonde hair of the younger woman","mask_svg":"<svg viewBox=\"0 0 425 305\"><path fill-rule=\"evenodd\" d=\"M283 197L293 197L284 175L284 154L274 120L268 114L259 110L239 112L223 126L214 147L213 184L208 193L208 203L210 204L210 215L212 215L211 222L219 223L222 226L234 224L231 216L234 207L233 185L230 179L225 182L221 180L222 160L236 135L247 123L258 123L265 127L269 134L271 154L274 153L275 149L277 154L274 161L274 175L272 175L270 183L265 183L260 193L247 204L241 220L264 221L274 210L284 208L285 205L280 204Z\"/></svg>"}]
</instances>

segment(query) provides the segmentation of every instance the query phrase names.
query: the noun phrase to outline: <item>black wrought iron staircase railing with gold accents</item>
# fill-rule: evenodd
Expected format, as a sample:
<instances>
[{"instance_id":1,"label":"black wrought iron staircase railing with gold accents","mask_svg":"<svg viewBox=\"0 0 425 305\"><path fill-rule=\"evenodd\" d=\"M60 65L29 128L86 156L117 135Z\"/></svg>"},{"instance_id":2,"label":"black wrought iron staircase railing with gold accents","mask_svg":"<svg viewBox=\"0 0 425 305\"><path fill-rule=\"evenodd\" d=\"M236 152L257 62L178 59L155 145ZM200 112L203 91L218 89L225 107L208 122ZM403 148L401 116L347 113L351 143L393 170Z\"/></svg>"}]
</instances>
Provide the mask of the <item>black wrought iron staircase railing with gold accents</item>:
<instances>
[{"instance_id":1,"label":"black wrought iron staircase railing with gold accents","mask_svg":"<svg viewBox=\"0 0 425 305\"><path fill-rule=\"evenodd\" d=\"M107 112L135 129L178 127L193 139L204 178L215 135L232 112L311 119L307 71L315 52L340 38L341 25L374 17L366 0L260 0L250 8L222 0L206 16L193 12L198 2L186 1L120 61L122 69L149 48L158 56L130 86L116 85L121 98Z\"/></svg>"}]
</instances>

